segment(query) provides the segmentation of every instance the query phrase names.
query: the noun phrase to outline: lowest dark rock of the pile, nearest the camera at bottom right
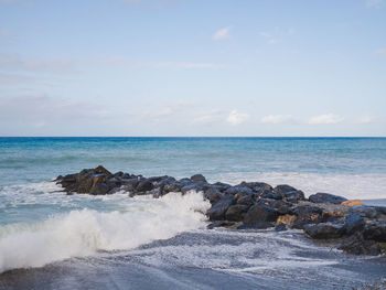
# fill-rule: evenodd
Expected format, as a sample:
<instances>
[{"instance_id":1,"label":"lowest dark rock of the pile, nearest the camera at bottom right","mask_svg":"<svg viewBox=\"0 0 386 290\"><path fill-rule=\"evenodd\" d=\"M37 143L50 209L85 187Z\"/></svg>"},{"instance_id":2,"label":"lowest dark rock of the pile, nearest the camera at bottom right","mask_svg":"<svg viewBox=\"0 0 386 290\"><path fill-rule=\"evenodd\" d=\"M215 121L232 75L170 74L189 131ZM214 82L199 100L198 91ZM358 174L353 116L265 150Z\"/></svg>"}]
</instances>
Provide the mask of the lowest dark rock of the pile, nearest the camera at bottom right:
<instances>
[{"instance_id":1,"label":"lowest dark rock of the pile, nearest the camera at bottom right","mask_svg":"<svg viewBox=\"0 0 386 290\"><path fill-rule=\"evenodd\" d=\"M365 240L360 233L343 240L339 249L354 255L377 256L380 254L379 245L375 240Z\"/></svg>"}]
</instances>

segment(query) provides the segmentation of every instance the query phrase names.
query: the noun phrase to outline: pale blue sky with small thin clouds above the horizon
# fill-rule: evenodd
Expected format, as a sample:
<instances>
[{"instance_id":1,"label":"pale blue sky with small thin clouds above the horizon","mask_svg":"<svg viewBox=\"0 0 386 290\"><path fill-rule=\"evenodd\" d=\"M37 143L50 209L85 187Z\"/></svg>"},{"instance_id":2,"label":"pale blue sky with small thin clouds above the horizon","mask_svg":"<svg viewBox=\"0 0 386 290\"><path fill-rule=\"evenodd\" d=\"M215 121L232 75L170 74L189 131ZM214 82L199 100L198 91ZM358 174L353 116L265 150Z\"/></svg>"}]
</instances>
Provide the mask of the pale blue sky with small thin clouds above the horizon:
<instances>
[{"instance_id":1,"label":"pale blue sky with small thin clouds above the horizon","mask_svg":"<svg viewBox=\"0 0 386 290\"><path fill-rule=\"evenodd\" d=\"M386 0L0 0L0 136L386 136Z\"/></svg>"}]
</instances>

